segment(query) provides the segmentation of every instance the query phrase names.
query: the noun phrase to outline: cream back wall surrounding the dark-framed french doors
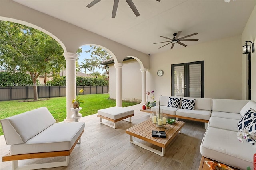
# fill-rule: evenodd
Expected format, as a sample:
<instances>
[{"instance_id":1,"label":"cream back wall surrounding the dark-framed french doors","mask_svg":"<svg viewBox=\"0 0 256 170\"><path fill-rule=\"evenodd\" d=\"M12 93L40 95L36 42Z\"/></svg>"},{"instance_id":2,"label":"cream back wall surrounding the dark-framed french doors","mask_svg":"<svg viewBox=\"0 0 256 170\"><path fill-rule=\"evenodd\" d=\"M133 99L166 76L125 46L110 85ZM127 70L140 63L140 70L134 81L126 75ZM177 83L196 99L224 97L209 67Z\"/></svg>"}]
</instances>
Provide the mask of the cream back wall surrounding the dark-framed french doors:
<instances>
[{"instance_id":1,"label":"cream back wall surrounding the dark-framed french doors","mask_svg":"<svg viewBox=\"0 0 256 170\"><path fill-rule=\"evenodd\" d=\"M150 56L155 96L171 95L172 64L204 61L204 97L241 99L241 47L241 36L236 36L178 49L174 46ZM159 69L164 70L162 77L156 75Z\"/></svg>"}]
</instances>

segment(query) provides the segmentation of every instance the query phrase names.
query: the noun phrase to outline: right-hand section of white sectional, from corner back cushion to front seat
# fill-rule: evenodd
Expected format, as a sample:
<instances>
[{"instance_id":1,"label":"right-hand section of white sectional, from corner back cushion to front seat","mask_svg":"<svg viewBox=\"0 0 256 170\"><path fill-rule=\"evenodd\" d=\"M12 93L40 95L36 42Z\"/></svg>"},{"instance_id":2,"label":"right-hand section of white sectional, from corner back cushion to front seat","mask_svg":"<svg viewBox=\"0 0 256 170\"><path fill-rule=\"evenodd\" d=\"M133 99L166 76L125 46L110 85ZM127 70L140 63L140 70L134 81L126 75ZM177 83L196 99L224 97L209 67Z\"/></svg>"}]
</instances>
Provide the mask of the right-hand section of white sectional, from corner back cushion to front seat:
<instances>
[{"instance_id":1,"label":"right-hand section of white sectional, from corner back cushion to front seat","mask_svg":"<svg viewBox=\"0 0 256 170\"><path fill-rule=\"evenodd\" d=\"M248 100L212 99L212 116L202 139L202 156L241 170L253 168L254 146L237 139L238 121L256 102Z\"/></svg>"}]
</instances>

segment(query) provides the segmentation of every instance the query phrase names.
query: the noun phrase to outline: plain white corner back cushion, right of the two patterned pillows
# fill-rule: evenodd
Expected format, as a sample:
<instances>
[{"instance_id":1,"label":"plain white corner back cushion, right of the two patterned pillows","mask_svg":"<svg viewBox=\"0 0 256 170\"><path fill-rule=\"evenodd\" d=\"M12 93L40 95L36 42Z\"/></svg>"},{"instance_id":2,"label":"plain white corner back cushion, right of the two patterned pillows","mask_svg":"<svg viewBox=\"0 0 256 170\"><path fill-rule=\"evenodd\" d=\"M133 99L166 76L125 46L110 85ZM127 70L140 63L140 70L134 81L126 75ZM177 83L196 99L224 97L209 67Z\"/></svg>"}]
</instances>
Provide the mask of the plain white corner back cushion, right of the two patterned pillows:
<instances>
[{"instance_id":1,"label":"plain white corner back cushion, right of the two patterned pillows","mask_svg":"<svg viewBox=\"0 0 256 170\"><path fill-rule=\"evenodd\" d=\"M212 111L240 113L249 100L212 99Z\"/></svg>"}]
</instances>

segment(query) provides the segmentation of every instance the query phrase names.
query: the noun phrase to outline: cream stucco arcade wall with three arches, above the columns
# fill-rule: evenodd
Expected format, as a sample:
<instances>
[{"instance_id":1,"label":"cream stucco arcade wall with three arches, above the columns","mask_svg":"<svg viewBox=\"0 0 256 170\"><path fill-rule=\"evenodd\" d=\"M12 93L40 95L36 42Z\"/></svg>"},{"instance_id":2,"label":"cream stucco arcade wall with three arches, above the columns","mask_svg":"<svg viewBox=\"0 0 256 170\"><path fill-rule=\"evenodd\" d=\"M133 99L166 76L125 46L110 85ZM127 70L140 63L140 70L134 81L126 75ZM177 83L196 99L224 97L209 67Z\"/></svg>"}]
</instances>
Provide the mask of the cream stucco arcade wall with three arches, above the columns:
<instances>
[{"instance_id":1,"label":"cream stucco arcade wall with three arches, above the columns","mask_svg":"<svg viewBox=\"0 0 256 170\"><path fill-rule=\"evenodd\" d=\"M115 63L122 63L126 56L136 56L142 61L144 68L149 68L149 57L145 53L126 47L120 43L92 33L65 21L59 20L42 12L28 8L12 0L1 1L0 20L13 18L23 24L43 31L56 39L63 47L64 52L76 53L84 44L96 44L110 50L115 56Z\"/></svg>"}]
</instances>

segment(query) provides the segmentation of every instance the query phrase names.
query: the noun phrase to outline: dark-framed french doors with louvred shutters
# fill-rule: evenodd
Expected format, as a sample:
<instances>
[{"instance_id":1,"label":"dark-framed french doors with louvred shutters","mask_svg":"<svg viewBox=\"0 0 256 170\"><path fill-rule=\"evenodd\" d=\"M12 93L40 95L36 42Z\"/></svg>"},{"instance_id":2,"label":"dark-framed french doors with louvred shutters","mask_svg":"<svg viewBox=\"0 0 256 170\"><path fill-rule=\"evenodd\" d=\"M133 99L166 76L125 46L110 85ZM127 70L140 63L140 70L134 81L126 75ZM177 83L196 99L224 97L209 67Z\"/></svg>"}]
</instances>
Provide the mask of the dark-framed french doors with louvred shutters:
<instances>
[{"instance_id":1,"label":"dark-framed french doors with louvred shutters","mask_svg":"<svg viewBox=\"0 0 256 170\"><path fill-rule=\"evenodd\" d=\"M172 96L204 98L204 61L172 64Z\"/></svg>"}]
</instances>

